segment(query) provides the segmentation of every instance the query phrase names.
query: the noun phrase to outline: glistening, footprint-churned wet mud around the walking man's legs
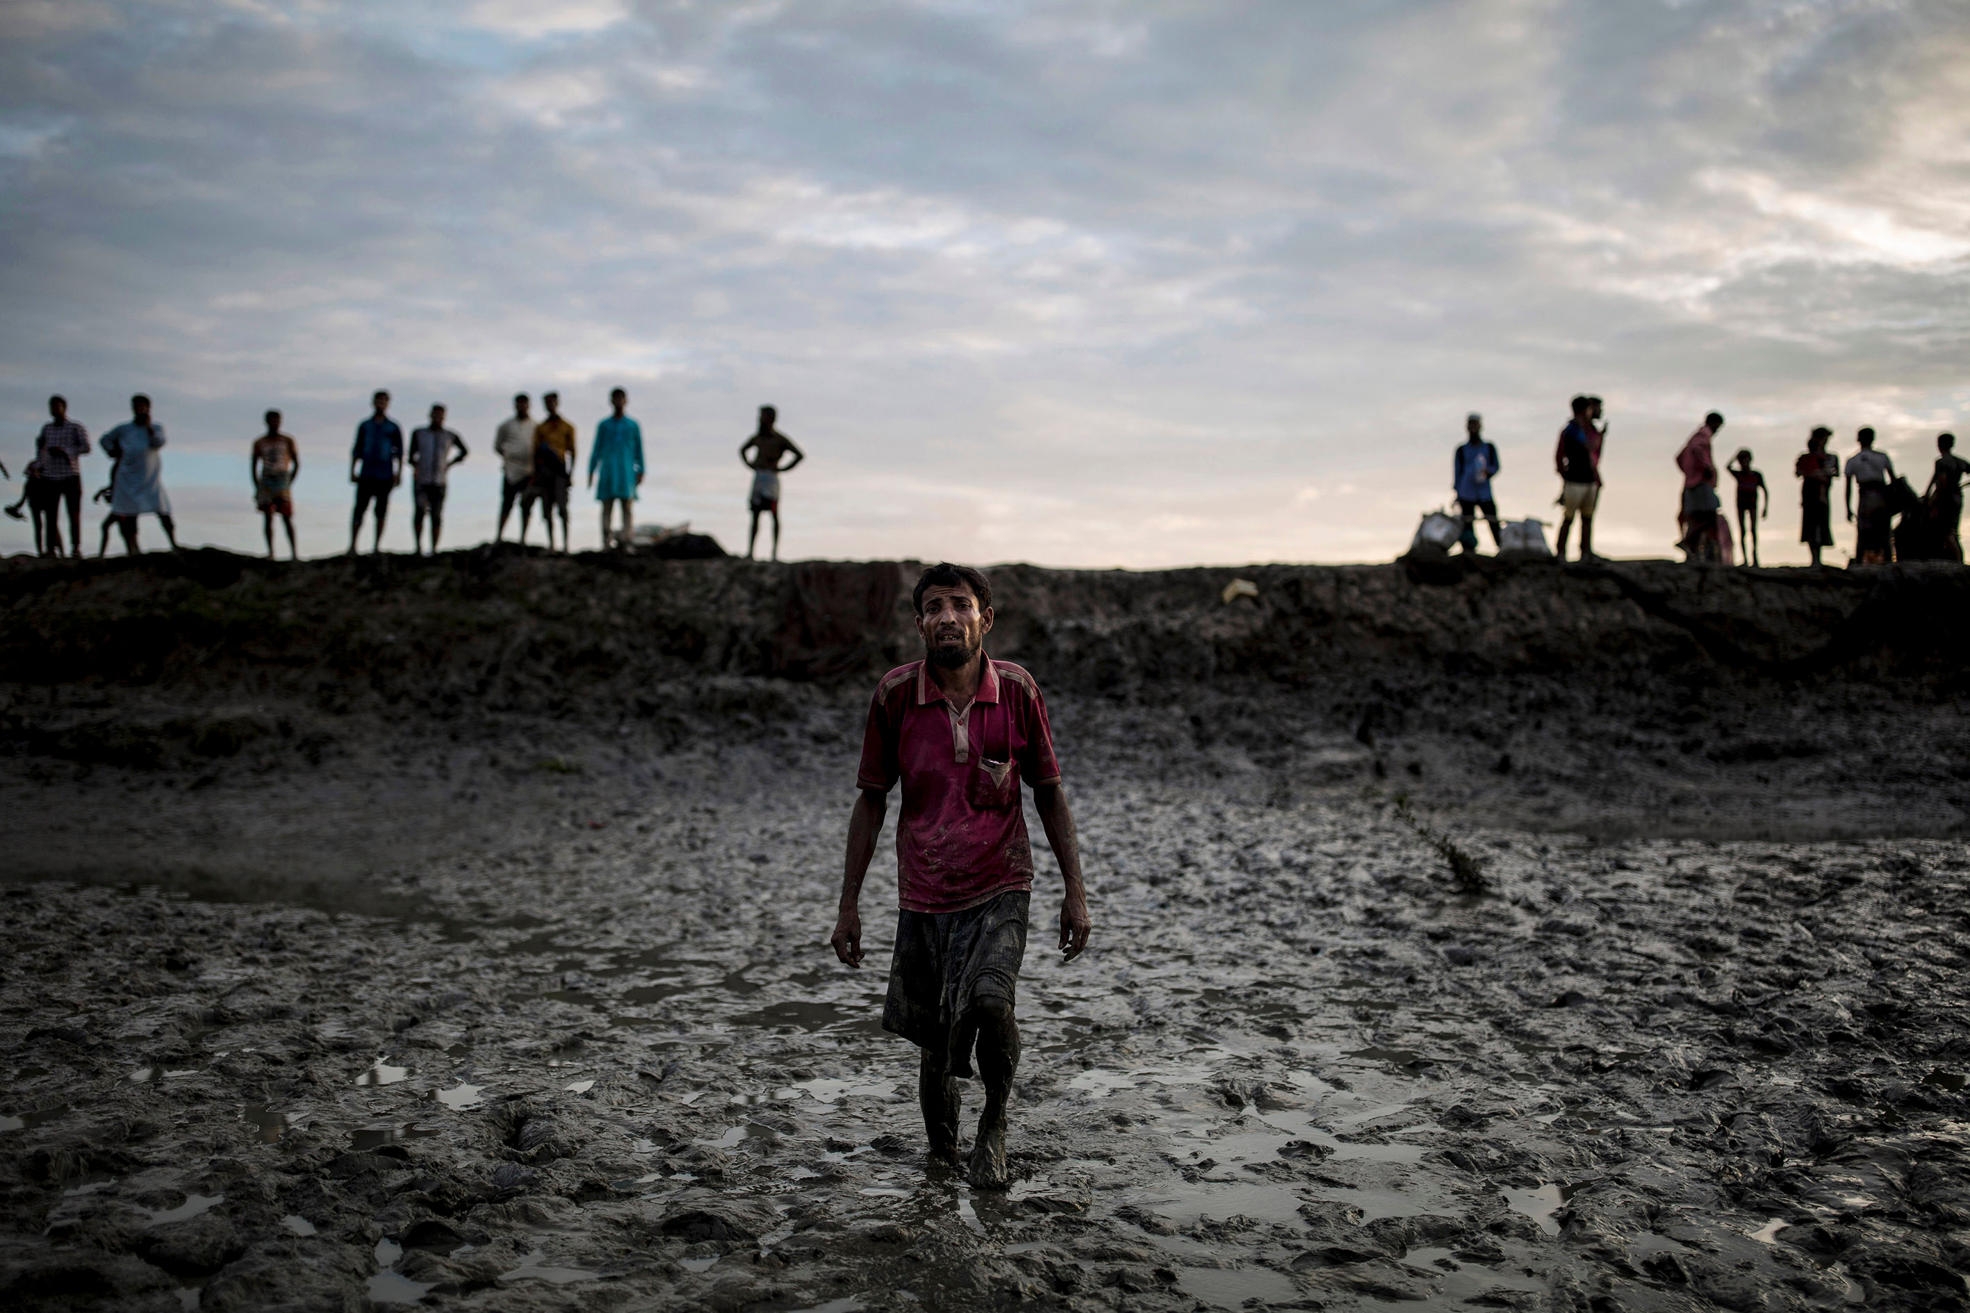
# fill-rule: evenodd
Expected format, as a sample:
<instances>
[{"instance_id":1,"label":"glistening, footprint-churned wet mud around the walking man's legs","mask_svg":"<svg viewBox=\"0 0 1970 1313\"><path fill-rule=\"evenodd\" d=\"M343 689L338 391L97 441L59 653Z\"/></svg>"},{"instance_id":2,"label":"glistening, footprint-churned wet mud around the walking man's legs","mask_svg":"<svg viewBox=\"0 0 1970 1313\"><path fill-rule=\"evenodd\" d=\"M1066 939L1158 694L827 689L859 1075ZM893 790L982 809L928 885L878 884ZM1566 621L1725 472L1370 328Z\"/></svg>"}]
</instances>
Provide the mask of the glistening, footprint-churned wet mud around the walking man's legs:
<instances>
[{"instance_id":1,"label":"glistening, footprint-churned wet mud around the walking man's legs","mask_svg":"<svg viewBox=\"0 0 1970 1313\"><path fill-rule=\"evenodd\" d=\"M825 947L837 783L514 831L402 872L412 917L16 886L0 1280L171 1309L1964 1297L1960 843L1474 831L1474 900L1387 801L1091 783L1095 947L1032 933L1018 1181L979 1193L924 1159L877 1024L892 870L875 969Z\"/></svg>"}]
</instances>

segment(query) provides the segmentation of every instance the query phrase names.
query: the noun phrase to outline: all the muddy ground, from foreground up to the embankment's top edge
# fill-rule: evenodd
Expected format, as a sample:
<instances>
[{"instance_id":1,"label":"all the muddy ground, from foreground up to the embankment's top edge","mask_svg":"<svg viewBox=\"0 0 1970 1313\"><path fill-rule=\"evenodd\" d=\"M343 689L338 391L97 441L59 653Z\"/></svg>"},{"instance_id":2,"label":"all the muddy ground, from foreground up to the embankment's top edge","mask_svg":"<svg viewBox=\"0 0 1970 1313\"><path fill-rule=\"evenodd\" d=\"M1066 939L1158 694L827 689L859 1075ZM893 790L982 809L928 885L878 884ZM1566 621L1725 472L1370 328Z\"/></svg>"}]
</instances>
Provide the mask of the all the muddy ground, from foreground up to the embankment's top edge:
<instances>
[{"instance_id":1,"label":"all the muddy ground, from foreground up to the embankment's top edge","mask_svg":"<svg viewBox=\"0 0 1970 1313\"><path fill-rule=\"evenodd\" d=\"M1964 1305L1960 573L997 571L1005 1195L823 943L900 577L8 565L8 1305Z\"/></svg>"}]
</instances>

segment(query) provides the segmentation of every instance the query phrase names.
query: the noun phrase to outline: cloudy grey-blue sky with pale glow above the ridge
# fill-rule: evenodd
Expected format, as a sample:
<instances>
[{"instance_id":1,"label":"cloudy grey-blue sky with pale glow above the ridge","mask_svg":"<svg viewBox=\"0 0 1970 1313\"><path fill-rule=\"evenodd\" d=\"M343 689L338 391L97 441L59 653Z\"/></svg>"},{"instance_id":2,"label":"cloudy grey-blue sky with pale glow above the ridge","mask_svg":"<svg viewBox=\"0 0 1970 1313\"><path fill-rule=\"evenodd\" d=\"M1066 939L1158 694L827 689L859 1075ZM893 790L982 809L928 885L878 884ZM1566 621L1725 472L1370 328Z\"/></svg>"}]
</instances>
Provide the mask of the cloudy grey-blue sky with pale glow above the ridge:
<instances>
[{"instance_id":1,"label":"cloudy grey-blue sky with pale glow above the ridge","mask_svg":"<svg viewBox=\"0 0 1970 1313\"><path fill-rule=\"evenodd\" d=\"M8 0L0 278L0 461L49 392L98 433L144 390L189 541L256 543L268 406L325 553L368 392L449 404L463 545L506 398L559 388L585 459L621 384L638 516L727 547L776 404L790 555L1387 559L1470 409L1501 510L1556 520L1598 392L1606 551L1671 555L1716 407L1771 476L1767 561L1803 561L1810 425L1879 427L1919 484L1970 425L1970 16Z\"/></svg>"}]
</instances>

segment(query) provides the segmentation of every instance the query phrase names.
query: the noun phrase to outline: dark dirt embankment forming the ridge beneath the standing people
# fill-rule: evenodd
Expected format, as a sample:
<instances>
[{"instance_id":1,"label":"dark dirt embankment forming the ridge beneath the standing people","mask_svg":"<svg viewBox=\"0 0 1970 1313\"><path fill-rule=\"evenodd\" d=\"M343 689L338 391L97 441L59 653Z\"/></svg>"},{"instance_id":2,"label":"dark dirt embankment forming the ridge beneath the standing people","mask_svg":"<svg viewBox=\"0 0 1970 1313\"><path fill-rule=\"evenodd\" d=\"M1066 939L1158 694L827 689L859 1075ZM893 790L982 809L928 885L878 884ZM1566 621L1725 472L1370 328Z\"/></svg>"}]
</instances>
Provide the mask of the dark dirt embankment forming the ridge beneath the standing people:
<instances>
[{"instance_id":1,"label":"dark dirt embankment forming the ridge beneath the standing people","mask_svg":"<svg viewBox=\"0 0 1970 1313\"><path fill-rule=\"evenodd\" d=\"M906 563L477 549L0 567L16 754L203 778L254 752L581 724L853 734L914 652ZM1393 780L1602 833L1958 833L1970 571L1438 563L993 571L995 656L1101 762ZM1233 579L1255 598L1223 600Z\"/></svg>"}]
</instances>

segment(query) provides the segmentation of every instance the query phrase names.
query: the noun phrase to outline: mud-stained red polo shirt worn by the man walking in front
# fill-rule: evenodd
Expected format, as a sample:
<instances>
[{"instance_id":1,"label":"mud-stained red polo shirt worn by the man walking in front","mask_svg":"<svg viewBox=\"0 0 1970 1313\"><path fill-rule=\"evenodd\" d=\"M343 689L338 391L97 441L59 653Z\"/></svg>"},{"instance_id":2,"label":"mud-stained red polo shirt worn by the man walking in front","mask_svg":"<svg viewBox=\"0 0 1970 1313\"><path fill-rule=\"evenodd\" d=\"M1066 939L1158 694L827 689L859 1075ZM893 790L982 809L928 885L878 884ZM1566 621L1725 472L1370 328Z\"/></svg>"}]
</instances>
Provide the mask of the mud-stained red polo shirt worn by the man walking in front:
<instances>
[{"instance_id":1,"label":"mud-stained red polo shirt worn by the man walking in front","mask_svg":"<svg viewBox=\"0 0 1970 1313\"><path fill-rule=\"evenodd\" d=\"M977 807L979 760L1013 762L1013 803ZM902 780L896 894L906 911L963 911L1007 890L1032 888L1032 841L1018 780L1060 783L1040 685L1011 661L985 657L977 697L957 711L910 661L883 675L869 705L855 783L885 793Z\"/></svg>"}]
</instances>

